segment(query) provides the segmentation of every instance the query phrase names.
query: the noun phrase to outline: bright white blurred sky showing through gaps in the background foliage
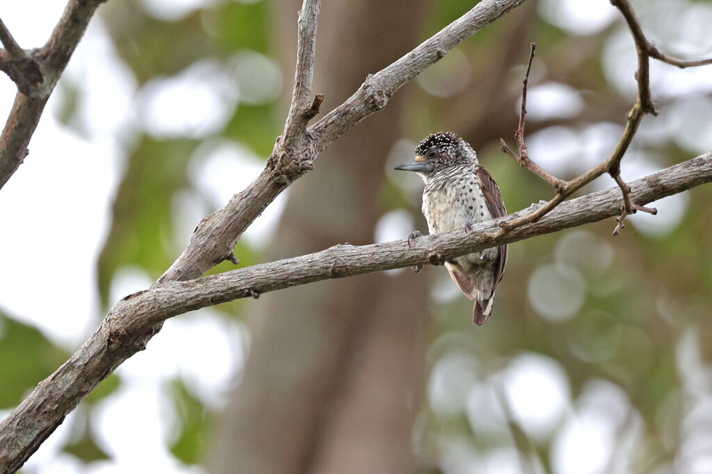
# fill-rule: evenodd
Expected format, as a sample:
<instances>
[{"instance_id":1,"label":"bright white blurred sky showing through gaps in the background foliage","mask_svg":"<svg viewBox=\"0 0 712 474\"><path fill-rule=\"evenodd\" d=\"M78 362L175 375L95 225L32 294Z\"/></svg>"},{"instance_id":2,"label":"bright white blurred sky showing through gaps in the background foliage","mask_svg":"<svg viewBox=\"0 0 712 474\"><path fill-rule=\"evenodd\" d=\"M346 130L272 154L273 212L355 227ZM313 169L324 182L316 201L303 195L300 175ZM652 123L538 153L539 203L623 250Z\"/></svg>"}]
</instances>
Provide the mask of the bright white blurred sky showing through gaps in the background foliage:
<instances>
[{"instance_id":1,"label":"bright white blurred sky showing through gaps in the background foliage","mask_svg":"<svg viewBox=\"0 0 712 474\"><path fill-rule=\"evenodd\" d=\"M143 0L143 4L157 18L176 19L214 1L218 0ZM63 4L58 0L6 2L2 18L19 43L30 48L46 40L61 15ZM36 11L43 14L36 15ZM617 18L607 0L546 0L540 4L540 11L548 21L577 34L599 33ZM708 18L709 11L709 8L703 11L700 17ZM690 31L701 32L700 38L706 38L701 41L709 43L706 28ZM691 54L704 53L696 50L698 43L694 41L675 44ZM447 58L441 63L444 68L459 70L464 75L471 68L464 55L457 51ZM634 59L631 58L634 58L632 41L622 29L606 45L604 66L612 84L628 95L634 93ZM251 100L257 97L261 101L283 93L283 74L271 59L243 52L234 60L243 70L253 71L244 75L238 88L226 79L221 65L203 61L174 77L152 80L137 90L130 70L122 65L112 49L100 16L93 18L65 74L67 80L87 87L87 99L80 106L83 123L88 126L87 135L78 136L56 120L53 111L61 99L61 87L58 87L33 136L29 146L31 154L0 192L1 219L11 222L6 226L11 232L3 232L0 242L0 262L3 262L0 305L4 311L40 328L68 350L75 350L95 330L103 317L95 288L96 260L110 225L110 207L126 149L135 132L145 131L159 137L205 136L220 130L234 108L239 107L241 90L250 90ZM434 95L446 95L461 87L444 84L443 77L447 75L440 72L433 70L424 75L418 80L419 85ZM679 71L654 63L651 72L654 90L664 91L667 98L688 97L691 92L712 89L710 68ZM258 82L251 79L256 75L261 78ZM14 84L2 75L0 114L9 112L14 95ZM184 107L175 107L177 102ZM574 117L580 112L582 99L571 87L548 82L531 87L528 105L531 119ZM712 149L709 120L695 124L671 118L673 114L675 117L712 117L712 101L681 100L671 109L664 110L657 119L662 125L656 134L672 136L699 152ZM612 137L618 134L617 124L594 124L578 131L550 128L528 137L528 145L531 156L557 173L570 163L570 155L562 150L575 150L578 162L587 168L607 154L612 148ZM640 136L656 139L654 134L646 138L644 131ZM398 159L412 148L412 143L399 141L391 153ZM634 149L624 160L624 178L637 178L655 171L655 163L656 157L644 156ZM209 141L196 151L192 166L194 185L199 192L211 196L216 203L225 203L256 176L261 161L242 144ZM597 183L599 188L611 184ZM251 244L265 242L265 237L271 234L285 198L283 195L268 208L246 233L245 238ZM194 225L209 212L196 205L197 201L191 193L177 198L177 242L187 242ZM656 203L660 211L656 217L633 216L631 221L641 232L664 234L679 223L686 202L684 194L666 199ZM412 228L412 217L407 212L390 212L377 226L375 241L403 238ZM597 257L589 259L596 271L603 271L602 265L610 264L609 260L606 263L600 259L600 255L611 252L606 242L597 241L585 230L571 235L570 239L560 242L556 261L540 266L533 273L528 288L535 310L551 321L570 318L586 298L585 276L579 274L571 259L587 257L572 257L574 252L568 250L579 242L575 239L598 246ZM176 255L180 247L182 244L177 244ZM38 268L32 262L41 262L45 272L39 291L31 286L36 282ZM111 298L116 300L151 283L141 269L124 267L112 282ZM561 291L561 285L565 285L566 291ZM447 287L454 289L449 282ZM456 296L456 291L443 290L434 293L439 298ZM565 301L550 308L548 301L553 297ZM694 347L695 337L689 335L691 342L685 347ZM167 381L180 374L192 393L203 402L215 408L224 406L227 390L244 362L247 341L242 325L210 309L168 321L148 350L119 368L122 387L91 408L97 416L90 429L98 434L100 445L110 453L112 460L83 465L58 451L61 443L71 436L73 419L85 416L83 410L89 408L84 407L68 417L31 458L27 468L43 474L200 472L197 468L185 468L167 451L164 440L171 438L176 423L172 402L167 398ZM680 357L686 361L697 360L696 352L690 349L681 349ZM699 364L693 363L684 365L681 370L689 379L703 372ZM469 376L463 377L463 373ZM614 448L632 449L632 443L612 446L612 433L625 431L631 440L642 436L639 415L619 387L592 381L580 397L572 399L562 367L555 360L533 353L513 358L495 373L484 372L471 355L451 353L436 363L427 392L436 412L464 412L474 430L488 433L501 429L501 404L506 400L529 436L533 439L554 436L551 454L555 472L559 474L602 473ZM602 399L607 404L602 405ZM137 430L137 426L141 429ZM481 452L458 439L444 440L444 443L447 454L443 468L447 473L518 472L519 460L513 451ZM484 470L475 470L474 466ZM708 470L711 471L712 468Z\"/></svg>"}]
</instances>

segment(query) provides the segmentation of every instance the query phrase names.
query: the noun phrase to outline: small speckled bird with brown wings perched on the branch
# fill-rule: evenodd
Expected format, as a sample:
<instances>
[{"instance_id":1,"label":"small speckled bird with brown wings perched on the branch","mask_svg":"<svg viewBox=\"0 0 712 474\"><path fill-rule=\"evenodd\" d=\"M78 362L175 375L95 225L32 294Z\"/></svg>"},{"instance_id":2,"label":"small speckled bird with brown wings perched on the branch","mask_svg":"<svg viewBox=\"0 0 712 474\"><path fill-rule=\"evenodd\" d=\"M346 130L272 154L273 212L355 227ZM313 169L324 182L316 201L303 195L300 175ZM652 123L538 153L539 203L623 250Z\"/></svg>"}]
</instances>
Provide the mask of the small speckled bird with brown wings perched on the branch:
<instances>
[{"instance_id":1,"label":"small speckled bird with brown wings perched on the branch","mask_svg":"<svg viewBox=\"0 0 712 474\"><path fill-rule=\"evenodd\" d=\"M467 231L473 223L507 214L492 175L479 163L472 146L451 131L426 136L415 149L415 158L394 169L414 171L423 179L422 211L430 234ZM420 235L412 232L408 242ZM492 315L494 291L502 280L507 254L507 246L500 245L445 262L452 281L474 300L472 321L476 325Z\"/></svg>"}]
</instances>

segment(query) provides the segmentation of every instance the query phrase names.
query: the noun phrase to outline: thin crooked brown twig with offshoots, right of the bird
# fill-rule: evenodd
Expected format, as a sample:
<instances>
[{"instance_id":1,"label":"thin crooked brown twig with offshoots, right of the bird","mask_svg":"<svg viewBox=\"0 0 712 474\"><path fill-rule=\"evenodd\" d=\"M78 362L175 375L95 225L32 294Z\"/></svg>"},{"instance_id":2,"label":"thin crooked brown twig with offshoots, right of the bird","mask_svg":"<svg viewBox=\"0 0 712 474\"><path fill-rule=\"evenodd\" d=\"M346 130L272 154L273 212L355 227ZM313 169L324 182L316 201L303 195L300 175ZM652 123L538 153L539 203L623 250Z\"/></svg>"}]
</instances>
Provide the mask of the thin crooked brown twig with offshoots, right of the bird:
<instances>
[{"instance_id":1,"label":"thin crooked brown twig with offshoots, right of the bird","mask_svg":"<svg viewBox=\"0 0 712 474\"><path fill-rule=\"evenodd\" d=\"M669 58L663 55L654 47L654 45L651 45L651 43L645 37L643 29L640 26L640 22L638 21L638 18L628 1L611 0L611 3L616 6L619 11L621 11L621 14L625 19L633 36L635 48L638 55L638 68L635 73L635 78L638 82L637 100L626 116L626 126L623 131L623 134L618 140L618 143L611 155L603 163L600 163L594 168L591 168L589 171L582 173L580 176L577 176L577 178L574 178L571 181L562 181L544 171L536 163L533 163L533 161L529 159L529 156L526 151L526 145L524 143L524 117L526 114L527 83L535 49L535 44L532 43L532 49L529 56L529 64L523 81L522 109L519 116L519 128L517 129L517 132L515 134L515 139L519 147L519 155L511 151L511 149L509 149L503 139L500 139L500 148L502 149L502 151L513 156L513 158L515 158L521 166L524 166L528 170L535 173L537 176L540 176L540 178L543 178L545 181L550 183L555 188L556 195L548 203L546 203L546 205L544 205L536 212L533 212L529 215L525 215L523 217L518 217L516 219L503 221L501 223L501 233L506 233L520 225L525 225L530 222L536 222L548 212L553 210L557 205L562 203L566 198L572 195L572 193L575 193L577 190L587 185L591 181L595 180L604 173L609 173L609 175L619 185L623 198L622 211L619 217L617 218L617 225L613 230L613 235L619 235L620 230L625 227L623 224L623 220L627 215L634 214L637 211L648 212L649 214L653 215L658 212L655 208L646 208L644 206L633 203L630 198L630 188L620 175L621 160L623 159L623 156L628 150L628 147L630 146L633 140L633 136L638 131L638 126L640 125L640 122L642 122L644 115L657 115L657 111L655 109L655 105L653 103L653 99L650 93L650 58L657 58L659 60L663 60L666 63L671 64L676 63L675 65L678 65L681 68L711 64L712 59L699 61L679 61L675 60L674 58Z\"/></svg>"}]
</instances>

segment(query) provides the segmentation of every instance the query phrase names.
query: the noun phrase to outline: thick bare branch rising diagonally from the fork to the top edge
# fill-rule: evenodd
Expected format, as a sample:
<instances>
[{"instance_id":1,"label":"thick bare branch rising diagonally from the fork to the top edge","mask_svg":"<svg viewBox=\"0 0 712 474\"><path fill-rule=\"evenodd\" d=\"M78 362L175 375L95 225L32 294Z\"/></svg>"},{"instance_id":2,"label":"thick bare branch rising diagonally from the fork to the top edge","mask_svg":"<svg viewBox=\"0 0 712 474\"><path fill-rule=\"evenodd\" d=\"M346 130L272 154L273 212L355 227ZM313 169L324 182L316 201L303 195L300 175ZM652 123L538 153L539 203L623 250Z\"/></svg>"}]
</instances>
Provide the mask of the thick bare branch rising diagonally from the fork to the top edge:
<instances>
[{"instance_id":1,"label":"thick bare branch rising diagonally from the fork to the top edge","mask_svg":"<svg viewBox=\"0 0 712 474\"><path fill-rule=\"evenodd\" d=\"M290 183L313 169L320 151L352 126L386 106L402 85L444 57L484 26L525 0L483 0L446 28L387 68L367 77L346 102L308 127L300 149L284 149L281 140L266 168L248 188L201 222L187 248L161 276L159 283L193 279L230 259L242 232ZM308 94L303 97L309 97ZM288 156L283 156L287 153Z\"/></svg>"}]
</instances>

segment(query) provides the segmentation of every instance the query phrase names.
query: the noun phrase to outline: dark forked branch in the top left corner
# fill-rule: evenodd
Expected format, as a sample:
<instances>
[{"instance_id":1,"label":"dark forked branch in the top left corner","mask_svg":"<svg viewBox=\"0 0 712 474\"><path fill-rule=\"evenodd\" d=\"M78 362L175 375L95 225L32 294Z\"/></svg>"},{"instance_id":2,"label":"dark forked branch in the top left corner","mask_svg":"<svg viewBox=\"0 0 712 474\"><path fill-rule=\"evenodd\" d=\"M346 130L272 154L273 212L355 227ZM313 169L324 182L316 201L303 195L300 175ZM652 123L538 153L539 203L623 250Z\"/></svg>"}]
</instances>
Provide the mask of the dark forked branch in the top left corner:
<instances>
[{"instance_id":1,"label":"dark forked branch in the top left corner","mask_svg":"<svg viewBox=\"0 0 712 474\"><path fill-rule=\"evenodd\" d=\"M83 36L91 16L104 1L70 0L47 43L31 55L19 48L4 25L0 27L2 43L6 48L0 50L0 70L10 76L19 90L0 135L0 188L27 156L27 146L47 99Z\"/></svg>"}]
</instances>

